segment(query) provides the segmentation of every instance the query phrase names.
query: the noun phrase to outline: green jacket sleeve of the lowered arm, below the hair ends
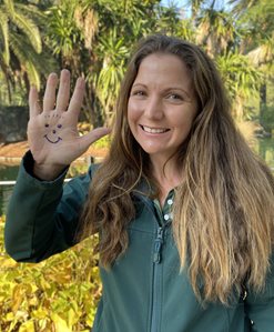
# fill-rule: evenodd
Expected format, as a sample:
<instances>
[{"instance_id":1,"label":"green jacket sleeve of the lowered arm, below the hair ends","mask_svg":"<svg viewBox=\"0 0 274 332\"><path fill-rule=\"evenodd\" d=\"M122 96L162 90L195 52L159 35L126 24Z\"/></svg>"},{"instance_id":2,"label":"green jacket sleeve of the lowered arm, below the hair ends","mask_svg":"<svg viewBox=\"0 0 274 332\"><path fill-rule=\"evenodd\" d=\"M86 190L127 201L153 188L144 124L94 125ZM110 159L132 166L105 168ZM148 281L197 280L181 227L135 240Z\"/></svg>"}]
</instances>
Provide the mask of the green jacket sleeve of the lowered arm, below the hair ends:
<instances>
[{"instance_id":1,"label":"green jacket sleeve of the lowered arm, below the hair ends","mask_svg":"<svg viewBox=\"0 0 274 332\"><path fill-rule=\"evenodd\" d=\"M252 321L252 332L274 331L274 253L271 260L265 289L261 293L247 290L246 314Z\"/></svg>"}]
</instances>

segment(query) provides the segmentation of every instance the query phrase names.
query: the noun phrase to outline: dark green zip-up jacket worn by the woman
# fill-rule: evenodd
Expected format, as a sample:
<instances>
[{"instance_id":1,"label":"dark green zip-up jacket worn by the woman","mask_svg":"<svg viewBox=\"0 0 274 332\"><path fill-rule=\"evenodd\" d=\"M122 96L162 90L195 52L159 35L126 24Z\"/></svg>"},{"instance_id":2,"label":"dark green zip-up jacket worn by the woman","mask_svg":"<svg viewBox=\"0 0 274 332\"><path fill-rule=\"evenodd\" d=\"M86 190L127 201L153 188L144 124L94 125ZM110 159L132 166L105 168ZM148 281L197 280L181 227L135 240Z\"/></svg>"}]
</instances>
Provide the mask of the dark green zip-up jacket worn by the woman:
<instances>
[{"instance_id":1,"label":"dark green zip-up jacket worn by the woman","mask_svg":"<svg viewBox=\"0 0 274 332\"><path fill-rule=\"evenodd\" d=\"M39 262L75 244L73 235L87 198L92 169L63 187L34 179L30 153L23 160L6 224L7 252L20 262ZM180 273L171 222L172 192L160 209L135 194L136 217L129 225L130 245L106 272L93 332L273 332L274 262L262 294L224 306L197 302L186 273Z\"/></svg>"}]
</instances>

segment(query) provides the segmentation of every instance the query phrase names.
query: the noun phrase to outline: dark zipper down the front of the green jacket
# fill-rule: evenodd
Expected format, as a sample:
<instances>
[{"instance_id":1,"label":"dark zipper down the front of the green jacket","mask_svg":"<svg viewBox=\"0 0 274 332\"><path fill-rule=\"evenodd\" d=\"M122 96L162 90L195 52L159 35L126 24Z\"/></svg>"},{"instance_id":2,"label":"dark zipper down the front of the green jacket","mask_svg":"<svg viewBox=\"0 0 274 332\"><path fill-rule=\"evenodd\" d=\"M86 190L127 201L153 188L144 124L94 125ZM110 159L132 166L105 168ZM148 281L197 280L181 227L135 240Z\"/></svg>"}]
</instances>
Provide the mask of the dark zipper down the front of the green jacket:
<instances>
[{"instance_id":1,"label":"dark zipper down the front of the green jacket","mask_svg":"<svg viewBox=\"0 0 274 332\"><path fill-rule=\"evenodd\" d=\"M163 245L164 227L159 227L154 240L153 252L153 293L152 293L152 313L151 313L151 332L159 332L159 319L161 311L161 251Z\"/></svg>"}]
</instances>

